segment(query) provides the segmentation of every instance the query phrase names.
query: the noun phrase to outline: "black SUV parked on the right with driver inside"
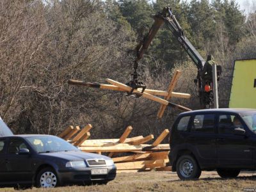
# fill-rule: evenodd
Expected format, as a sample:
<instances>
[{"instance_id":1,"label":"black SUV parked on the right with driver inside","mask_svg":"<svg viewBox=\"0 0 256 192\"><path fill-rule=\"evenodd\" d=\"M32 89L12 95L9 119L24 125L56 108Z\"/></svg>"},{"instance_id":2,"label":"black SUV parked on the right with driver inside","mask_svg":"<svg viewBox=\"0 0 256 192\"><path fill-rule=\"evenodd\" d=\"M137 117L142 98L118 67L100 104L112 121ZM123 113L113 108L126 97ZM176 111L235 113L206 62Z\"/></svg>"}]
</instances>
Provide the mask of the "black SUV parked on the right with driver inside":
<instances>
[{"instance_id":1,"label":"black SUV parked on the right with driver inside","mask_svg":"<svg viewBox=\"0 0 256 192\"><path fill-rule=\"evenodd\" d=\"M203 109L181 113L170 134L169 159L180 179L202 170L236 177L256 170L256 109Z\"/></svg>"}]
</instances>

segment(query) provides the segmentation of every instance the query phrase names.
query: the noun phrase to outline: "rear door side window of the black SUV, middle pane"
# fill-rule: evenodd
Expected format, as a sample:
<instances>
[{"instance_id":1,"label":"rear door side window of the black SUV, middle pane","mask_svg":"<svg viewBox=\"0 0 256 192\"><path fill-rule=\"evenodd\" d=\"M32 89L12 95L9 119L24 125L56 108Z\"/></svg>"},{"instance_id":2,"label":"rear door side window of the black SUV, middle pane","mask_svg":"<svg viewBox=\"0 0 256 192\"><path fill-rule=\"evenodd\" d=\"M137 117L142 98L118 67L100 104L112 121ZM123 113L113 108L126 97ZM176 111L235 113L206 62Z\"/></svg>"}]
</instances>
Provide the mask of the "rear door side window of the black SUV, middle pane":
<instances>
[{"instance_id":1,"label":"rear door side window of the black SUV, middle pane","mask_svg":"<svg viewBox=\"0 0 256 192\"><path fill-rule=\"evenodd\" d=\"M195 115L191 131L214 132L214 114Z\"/></svg>"}]
</instances>

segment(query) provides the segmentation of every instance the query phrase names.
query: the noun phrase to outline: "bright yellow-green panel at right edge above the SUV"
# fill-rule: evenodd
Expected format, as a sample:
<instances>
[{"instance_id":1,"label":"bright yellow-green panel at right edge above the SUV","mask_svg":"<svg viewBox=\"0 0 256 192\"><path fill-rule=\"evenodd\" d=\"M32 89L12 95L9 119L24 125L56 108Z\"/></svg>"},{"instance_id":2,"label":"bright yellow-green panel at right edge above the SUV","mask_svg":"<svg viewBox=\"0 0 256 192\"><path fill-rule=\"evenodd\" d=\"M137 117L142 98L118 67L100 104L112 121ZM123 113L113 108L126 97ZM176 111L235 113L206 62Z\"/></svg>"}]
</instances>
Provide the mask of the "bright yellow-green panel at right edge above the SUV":
<instances>
[{"instance_id":1,"label":"bright yellow-green panel at right edge above the SUV","mask_svg":"<svg viewBox=\"0 0 256 192\"><path fill-rule=\"evenodd\" d=\"M256 109L256 59L237 60L230 93L229 108Z\"/></svg>"}]
</instances>

